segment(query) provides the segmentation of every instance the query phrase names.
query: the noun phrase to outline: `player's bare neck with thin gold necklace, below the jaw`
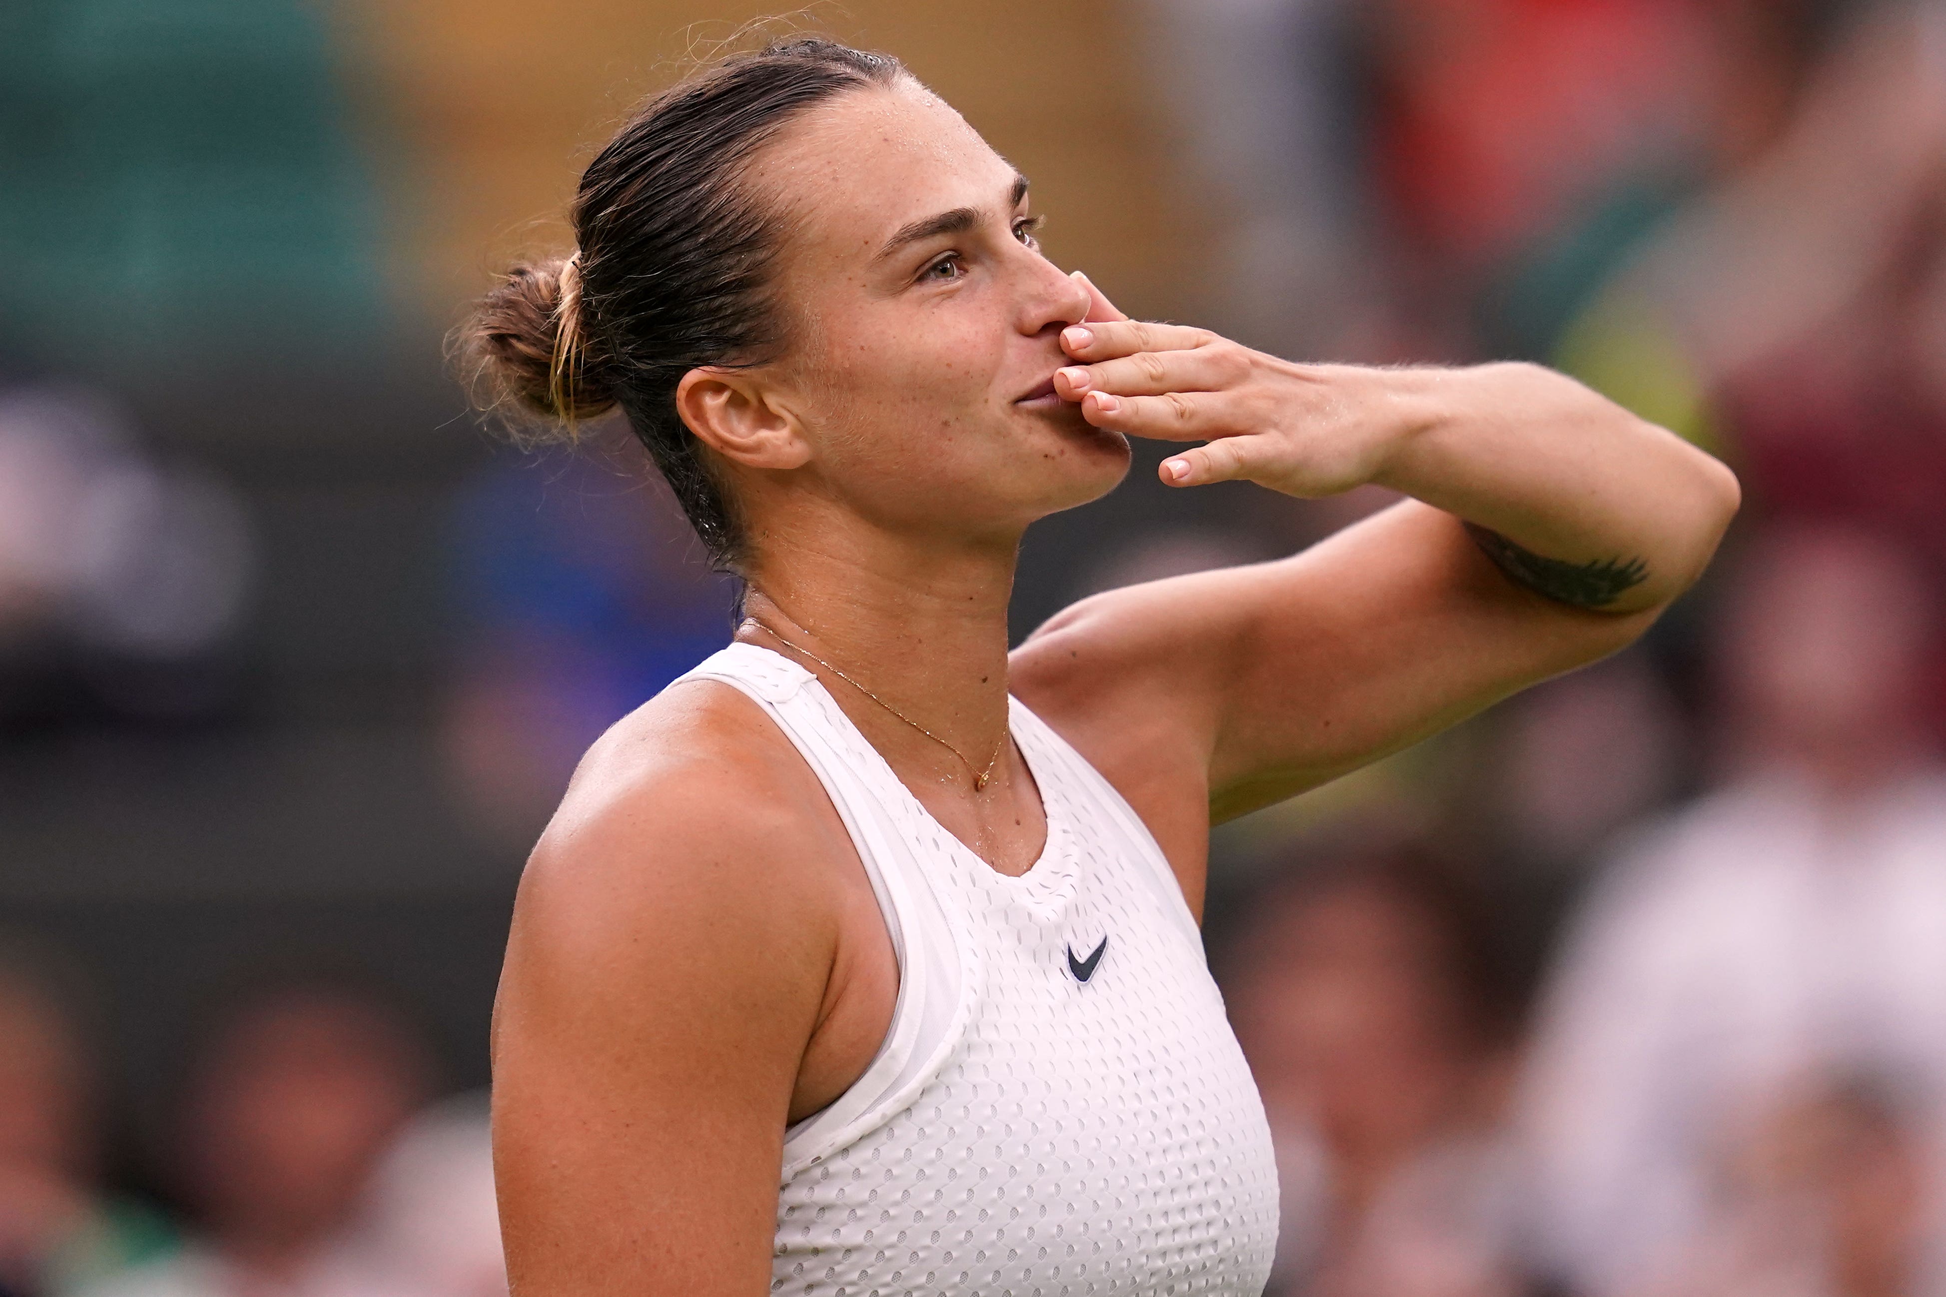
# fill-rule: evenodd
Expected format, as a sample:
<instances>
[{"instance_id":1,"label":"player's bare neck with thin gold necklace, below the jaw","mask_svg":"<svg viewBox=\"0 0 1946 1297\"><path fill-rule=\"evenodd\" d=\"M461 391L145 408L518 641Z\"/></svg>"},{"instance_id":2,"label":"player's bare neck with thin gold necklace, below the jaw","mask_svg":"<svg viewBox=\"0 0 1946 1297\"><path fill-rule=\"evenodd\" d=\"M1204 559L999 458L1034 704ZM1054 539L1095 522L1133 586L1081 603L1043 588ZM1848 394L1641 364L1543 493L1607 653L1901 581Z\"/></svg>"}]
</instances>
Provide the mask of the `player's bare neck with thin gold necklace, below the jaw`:
<instances>
[{"instance_id":1,"label":"player's bare neck with thin gold necklace, below the jaw","mask_svg":"<svg viewBox=\"0 0 1946 1297\"><path fill-rule=\"evenodd\" d=\"M749 565L745 611L769 635L745 623L738 639L775 647L775 635L823 658L876 695L878 703L827 680L880 752L965 781L967 765L979 773L1008 728L1006 604L1016 547L1018 537L926 543L850 534L833 541L829 532L815 543L778 545ZM802 658L800 666L829 676Z\"/></svg>"}]
</instances>

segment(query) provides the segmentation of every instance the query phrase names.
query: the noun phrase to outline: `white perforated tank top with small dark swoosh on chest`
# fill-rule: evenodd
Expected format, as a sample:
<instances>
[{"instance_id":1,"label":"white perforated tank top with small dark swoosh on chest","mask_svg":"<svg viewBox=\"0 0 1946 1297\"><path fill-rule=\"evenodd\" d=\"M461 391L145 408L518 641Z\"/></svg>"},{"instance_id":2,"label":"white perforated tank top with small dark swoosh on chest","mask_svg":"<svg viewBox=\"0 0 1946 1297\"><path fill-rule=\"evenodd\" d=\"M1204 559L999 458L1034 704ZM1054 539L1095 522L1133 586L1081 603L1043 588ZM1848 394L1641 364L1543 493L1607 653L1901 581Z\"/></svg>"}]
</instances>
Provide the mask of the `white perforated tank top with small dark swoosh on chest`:
<instances>
[{"instance_id":1,"label":"white perforated tank top with small dark swoosh on chest","mask_svg":"<svg viewBox=\"0 0 1946 1297\"><path fill-rule=\"evenodd\" d=\"M771 1291L1257 1297L1277 1244L1263 1102L1121 795L1014 699L1047 847L1010 878L790 658L736 643L683 680L741 689L804 754L899 960L878 1057L786 1131Z\"/></svg>"}]
</instances>

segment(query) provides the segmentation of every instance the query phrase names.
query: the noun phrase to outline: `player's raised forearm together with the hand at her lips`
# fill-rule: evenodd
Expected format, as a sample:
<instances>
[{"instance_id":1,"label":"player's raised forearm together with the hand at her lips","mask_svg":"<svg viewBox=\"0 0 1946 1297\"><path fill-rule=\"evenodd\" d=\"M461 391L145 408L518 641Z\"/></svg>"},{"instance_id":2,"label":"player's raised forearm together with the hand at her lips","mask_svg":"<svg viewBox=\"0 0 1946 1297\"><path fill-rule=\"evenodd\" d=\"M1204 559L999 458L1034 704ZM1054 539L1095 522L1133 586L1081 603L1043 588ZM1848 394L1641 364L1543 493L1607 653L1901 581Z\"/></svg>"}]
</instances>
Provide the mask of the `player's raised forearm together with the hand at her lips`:
<instances>
[{"instance_id":1,"label":"player's raised forearm together with the hand at her lips","mask_svg":"<svg viewBox=\"0 0 1946 1297\"><path fill-rule=\"evenodd\" d=\"M1296 497L1378 483L1444 508L1524 586L1635 613L1697 578L1736 514L1736 477L1672 432L1537 364L1304 364L1205 329L1090 317L1063 333L1055 389L1088 423L1205 440L1175 487L1255 481Z\"/></svg>"}]
</instances>

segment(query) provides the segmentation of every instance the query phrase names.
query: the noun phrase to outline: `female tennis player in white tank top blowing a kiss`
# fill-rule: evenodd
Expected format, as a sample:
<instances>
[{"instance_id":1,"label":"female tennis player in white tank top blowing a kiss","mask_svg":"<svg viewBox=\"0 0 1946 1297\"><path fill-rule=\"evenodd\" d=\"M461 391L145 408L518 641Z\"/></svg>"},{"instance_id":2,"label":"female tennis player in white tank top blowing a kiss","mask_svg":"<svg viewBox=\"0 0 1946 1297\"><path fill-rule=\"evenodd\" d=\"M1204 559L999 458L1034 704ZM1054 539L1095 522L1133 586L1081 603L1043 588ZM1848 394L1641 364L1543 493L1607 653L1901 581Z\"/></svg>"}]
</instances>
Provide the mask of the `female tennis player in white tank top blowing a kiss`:
<instances>
[{"instance_id":1,"label":"female tennis player in white tank top blowing a kiss","mask_svg":"<svg viewBox=\"0 0 1946 1297\"><path fill-rule=\"evenodd\" d=\"M1277 1184L1197 935L1208 828L1613 652L1736 510L1526 364L1296 364L1125 319L1027 181L819 39L644 105L578 247L469 325L619 407L747 582L522 880L494 1030L520 1297L1257 1293ZM1008 652L1022 532L1131 436L1175 487L1407 497Z\"/></svg>"}]
</instances>

